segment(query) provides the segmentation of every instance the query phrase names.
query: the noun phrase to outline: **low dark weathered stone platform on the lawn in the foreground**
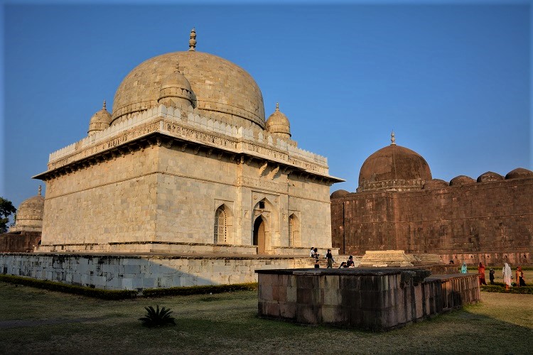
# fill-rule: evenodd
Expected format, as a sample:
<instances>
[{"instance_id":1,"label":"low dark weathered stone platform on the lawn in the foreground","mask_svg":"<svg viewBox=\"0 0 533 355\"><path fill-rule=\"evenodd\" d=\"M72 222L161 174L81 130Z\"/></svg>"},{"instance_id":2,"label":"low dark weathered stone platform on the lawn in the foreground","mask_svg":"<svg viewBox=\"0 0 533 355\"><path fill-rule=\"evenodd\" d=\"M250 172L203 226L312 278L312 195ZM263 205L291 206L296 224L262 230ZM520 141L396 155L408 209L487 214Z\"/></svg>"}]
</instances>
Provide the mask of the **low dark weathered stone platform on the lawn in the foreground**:
<instances>
[{"instance_id":1,"label":"low dark weathered stone platform on the lawn in the foreground","mask_svg":"<svg viewBox=\"0 0 533 355\"><path fill-rule=\"evenodd\" d=\"M259 316L387 330L477 302L477 274L426 268L257 270Z\"/></svg>"}]
</instances>

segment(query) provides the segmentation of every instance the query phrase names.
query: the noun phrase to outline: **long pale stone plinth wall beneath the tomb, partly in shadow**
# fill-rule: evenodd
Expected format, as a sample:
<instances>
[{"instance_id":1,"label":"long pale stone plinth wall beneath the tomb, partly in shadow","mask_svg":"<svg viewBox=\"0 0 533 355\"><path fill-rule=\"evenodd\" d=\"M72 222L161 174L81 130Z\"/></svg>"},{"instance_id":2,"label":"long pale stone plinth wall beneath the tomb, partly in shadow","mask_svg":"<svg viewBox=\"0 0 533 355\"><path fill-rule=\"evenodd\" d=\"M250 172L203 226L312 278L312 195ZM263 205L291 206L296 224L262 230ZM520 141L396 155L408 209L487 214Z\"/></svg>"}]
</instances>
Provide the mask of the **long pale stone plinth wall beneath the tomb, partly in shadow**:
<instances>
[{"instance_id":1,"label":"long pale stone plinth wall beneath the tomb, partly in shadow","mask_svg":"<svg viewBox=\"0 0 533 355\"><path fill-rule=\"evenodd\" d=\"M106 290L257 282L257 269L308 268L310 258L0 253L0 272Z\"/></svg>"}]
</instances>

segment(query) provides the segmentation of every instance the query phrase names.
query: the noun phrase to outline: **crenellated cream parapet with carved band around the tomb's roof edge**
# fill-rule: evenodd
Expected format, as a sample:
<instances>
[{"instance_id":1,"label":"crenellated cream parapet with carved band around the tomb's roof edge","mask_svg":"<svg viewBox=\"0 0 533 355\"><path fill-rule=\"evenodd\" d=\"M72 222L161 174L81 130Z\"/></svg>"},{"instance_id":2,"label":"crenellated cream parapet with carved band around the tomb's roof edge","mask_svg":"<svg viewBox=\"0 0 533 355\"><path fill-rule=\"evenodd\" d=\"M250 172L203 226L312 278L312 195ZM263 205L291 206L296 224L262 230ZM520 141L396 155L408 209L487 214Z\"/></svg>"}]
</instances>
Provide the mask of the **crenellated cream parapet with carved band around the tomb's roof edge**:
<instances>
[{"instance_id":1,"label":"crenellated cream parapet with carved band around the tomb's roof edge","mask_svg":"<svg viewBox=\"0 0 533 355\"><path fill-rule=\"evenodd\" d=\"M191 106L177 108L163 104L132 114L107 129L51 153L48 172L112 149L118 148L117 155L123 154L129 148L120 148L121 146L128 146L131 142L154 133L220 152L249 155L275 164L288 165L321 178L338 180L329 175L327 158L296 147L294 141L273 136L257 126L237 127L226 124L200 114L198 109Z\"/></svg>"}]
</instances>

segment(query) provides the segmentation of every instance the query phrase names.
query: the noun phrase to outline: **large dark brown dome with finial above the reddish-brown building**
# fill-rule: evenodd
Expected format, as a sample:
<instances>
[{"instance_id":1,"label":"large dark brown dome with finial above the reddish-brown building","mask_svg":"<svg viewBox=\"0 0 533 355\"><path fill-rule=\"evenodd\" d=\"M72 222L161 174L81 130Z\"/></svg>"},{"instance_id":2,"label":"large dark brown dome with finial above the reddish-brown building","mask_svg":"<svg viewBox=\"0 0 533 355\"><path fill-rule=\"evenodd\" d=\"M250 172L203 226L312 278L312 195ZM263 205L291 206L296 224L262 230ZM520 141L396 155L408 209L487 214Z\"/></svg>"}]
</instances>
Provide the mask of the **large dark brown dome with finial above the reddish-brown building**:
<instances>
[{"instance_id":1,"label":"large dark brown dome with finial above the reddish-brown building","mask_svg":"<svg viewBox=\"0 0 533 355\"><path fill-rule=\"evenodd\" d=\"M420 190L431 180L429 165L419 153L397 146L379 149L362 164L357 192L370 190Z\"/></svg>"}]
</instances>

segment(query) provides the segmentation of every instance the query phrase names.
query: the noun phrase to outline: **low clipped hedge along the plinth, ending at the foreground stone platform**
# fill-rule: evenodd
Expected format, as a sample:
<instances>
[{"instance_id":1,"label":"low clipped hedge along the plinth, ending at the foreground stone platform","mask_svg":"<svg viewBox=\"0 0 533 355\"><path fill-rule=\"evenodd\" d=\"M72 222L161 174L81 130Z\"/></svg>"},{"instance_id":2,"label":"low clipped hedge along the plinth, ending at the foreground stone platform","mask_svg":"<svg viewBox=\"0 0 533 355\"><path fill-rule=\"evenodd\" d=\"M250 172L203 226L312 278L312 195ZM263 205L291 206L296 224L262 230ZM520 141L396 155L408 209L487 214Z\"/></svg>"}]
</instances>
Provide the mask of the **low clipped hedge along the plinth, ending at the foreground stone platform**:
<instances>
[{"instance_id":1,"label":"low clipped hedge along the plinth, ending at the foreground stone platform","mask_svg":"<svg viewBox=\"0 0 533 355\"><path fill-rule=\"evenodd\" d=\"M175 288L145 288L142 293L144 297L161 297L205 295L209 293L225 293L249 290L257 290L257 283L237 283L234 285L184 286Z\"/></svg>"}]
</instances>

